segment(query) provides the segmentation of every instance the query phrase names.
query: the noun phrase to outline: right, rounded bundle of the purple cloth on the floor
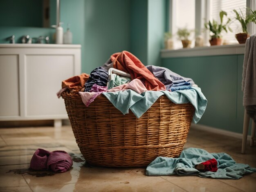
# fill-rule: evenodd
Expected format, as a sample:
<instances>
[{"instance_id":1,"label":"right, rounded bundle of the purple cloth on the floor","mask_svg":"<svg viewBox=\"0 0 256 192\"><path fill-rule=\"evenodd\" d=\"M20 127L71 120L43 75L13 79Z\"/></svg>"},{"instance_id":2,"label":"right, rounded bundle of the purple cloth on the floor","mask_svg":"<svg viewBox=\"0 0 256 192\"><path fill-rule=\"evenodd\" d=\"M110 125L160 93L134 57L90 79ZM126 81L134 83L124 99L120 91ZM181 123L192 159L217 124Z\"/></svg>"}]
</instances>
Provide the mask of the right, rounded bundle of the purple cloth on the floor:
<instances>
[{"instance_id":1,"label":"right, rounded bundle of the purple cloth on the floor","mask_svg":"<svg viewBox=\"0 0 256 192\"><path fill-rule=\"evenodd\" d=\"M47 168L54 172L65 172L73 165L71 156L65 151L53 151L47 161Z\"/></svg>"}]
</instances>

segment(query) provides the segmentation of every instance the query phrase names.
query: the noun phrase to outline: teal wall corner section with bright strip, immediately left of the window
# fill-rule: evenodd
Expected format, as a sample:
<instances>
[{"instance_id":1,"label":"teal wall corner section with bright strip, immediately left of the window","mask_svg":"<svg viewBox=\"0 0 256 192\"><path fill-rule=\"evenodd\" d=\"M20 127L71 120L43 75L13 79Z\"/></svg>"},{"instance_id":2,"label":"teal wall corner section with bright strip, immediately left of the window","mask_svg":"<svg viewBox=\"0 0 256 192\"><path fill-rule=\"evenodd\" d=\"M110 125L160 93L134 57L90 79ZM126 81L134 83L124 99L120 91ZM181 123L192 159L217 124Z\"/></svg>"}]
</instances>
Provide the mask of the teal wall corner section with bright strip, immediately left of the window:
<instances>
[{"instance_id":1,"label":"teal wall corner section with bright strip, immediately left of the window","mask_svg":"<svg viewBox=\"0 0 256 192\"><path fill-rule=\"evenodd\" d=\"M131 0L131 52L144 65L161 65L167 0Z\"/></svg>"}]
</instances>

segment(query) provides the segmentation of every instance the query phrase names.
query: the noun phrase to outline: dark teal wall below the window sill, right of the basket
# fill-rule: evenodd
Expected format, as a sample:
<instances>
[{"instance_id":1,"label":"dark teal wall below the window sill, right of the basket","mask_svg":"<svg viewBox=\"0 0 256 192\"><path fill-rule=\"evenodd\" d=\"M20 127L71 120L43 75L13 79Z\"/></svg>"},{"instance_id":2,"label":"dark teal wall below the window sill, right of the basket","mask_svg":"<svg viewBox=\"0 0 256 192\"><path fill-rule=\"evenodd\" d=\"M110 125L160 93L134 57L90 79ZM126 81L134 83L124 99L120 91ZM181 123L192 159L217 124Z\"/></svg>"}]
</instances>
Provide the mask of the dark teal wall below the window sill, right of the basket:
<instances>
[{"instance_id":1,"label":"dark teal wall below the window sill, right of the basket","mask_svg":"<svg viewBox=\"0 0 256 192\"><path fill-rule=\"evenodd\" d=\"M208 103L199 124L243 132L243 55L162 58L162 66L202 89Z\"/></svg>"}]
</instances>

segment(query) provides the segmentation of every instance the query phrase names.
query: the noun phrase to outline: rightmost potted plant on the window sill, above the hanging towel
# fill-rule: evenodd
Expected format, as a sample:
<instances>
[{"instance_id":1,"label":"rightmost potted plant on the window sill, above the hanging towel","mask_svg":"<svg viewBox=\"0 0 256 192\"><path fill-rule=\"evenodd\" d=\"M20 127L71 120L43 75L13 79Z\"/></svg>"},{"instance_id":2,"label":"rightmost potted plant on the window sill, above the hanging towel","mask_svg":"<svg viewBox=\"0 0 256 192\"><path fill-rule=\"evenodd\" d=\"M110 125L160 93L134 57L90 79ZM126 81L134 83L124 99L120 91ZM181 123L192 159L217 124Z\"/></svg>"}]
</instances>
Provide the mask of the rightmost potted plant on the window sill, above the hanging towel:
<instances>
[{"instance_id":1,"label":"rightmost potted plant on the window sill, above the hanging towel","mask_svg":"<svg viewBox=\"0 0 256 192\"><path fill-rule=\"evenodd\" d=\"M236 20L238 20L241 24L243 33L237 33L236 39L238 40L239 44L245 43L246 39L250 36L247 31L247 25L249 22L254 21L254 14L249 13L247 11L246 16L244 16L243 12L240 9L240 13L236 11L236 9L233 10L236 13Z\"/></svg>"}]
</instances>

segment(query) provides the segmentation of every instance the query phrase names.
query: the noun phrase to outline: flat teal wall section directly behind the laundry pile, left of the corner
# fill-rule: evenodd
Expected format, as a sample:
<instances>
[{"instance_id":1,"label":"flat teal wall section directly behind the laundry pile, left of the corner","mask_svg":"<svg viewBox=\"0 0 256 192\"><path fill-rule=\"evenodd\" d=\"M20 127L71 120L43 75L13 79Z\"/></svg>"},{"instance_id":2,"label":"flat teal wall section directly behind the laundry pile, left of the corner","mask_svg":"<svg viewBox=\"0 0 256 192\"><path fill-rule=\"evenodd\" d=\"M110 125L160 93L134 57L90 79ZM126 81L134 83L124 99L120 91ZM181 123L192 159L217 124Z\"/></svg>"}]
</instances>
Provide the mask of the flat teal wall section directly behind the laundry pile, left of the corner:
<instances>
[{"instance_id":1,"label":"flat teal wall section directly behind the laundry pile, left of the corner","mask_svg":"<svg viewBox=\"0 0 256 192\"><path fill-rule=\"evenodd\" d=\"M130 51L130 0L86 0L84 35L85 73L116 52Z\"/></svg>"}]
</instances>

